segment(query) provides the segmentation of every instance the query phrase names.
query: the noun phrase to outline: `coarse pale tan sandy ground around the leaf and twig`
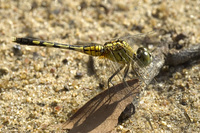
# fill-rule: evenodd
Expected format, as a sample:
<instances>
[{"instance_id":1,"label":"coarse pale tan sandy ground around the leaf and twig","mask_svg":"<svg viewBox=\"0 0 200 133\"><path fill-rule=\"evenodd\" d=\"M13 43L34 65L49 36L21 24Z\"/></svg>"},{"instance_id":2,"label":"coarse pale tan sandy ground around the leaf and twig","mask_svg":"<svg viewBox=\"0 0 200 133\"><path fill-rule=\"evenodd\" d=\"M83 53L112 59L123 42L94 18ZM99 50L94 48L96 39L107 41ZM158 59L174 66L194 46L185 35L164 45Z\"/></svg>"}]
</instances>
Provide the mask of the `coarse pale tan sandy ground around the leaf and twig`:
<instances>
[{"instance_id":1,"label":"coarse pale tan sandy ground around the leaf and twig","mask_svg":"<svg viewBox=\"0 0 200 133\"><path fill-rule=\"evenodd\" d=\"M109 76L99 59L92 75L87 55L18 46L12 37L103 44L154 29L200 42L200 1L0 0L0 131L43 132L41 125L64 122L106 89ZM198 61L165 69L145 90L136 113L115 130L200 132L199 70Z\"/></svg>"}]
</instances>

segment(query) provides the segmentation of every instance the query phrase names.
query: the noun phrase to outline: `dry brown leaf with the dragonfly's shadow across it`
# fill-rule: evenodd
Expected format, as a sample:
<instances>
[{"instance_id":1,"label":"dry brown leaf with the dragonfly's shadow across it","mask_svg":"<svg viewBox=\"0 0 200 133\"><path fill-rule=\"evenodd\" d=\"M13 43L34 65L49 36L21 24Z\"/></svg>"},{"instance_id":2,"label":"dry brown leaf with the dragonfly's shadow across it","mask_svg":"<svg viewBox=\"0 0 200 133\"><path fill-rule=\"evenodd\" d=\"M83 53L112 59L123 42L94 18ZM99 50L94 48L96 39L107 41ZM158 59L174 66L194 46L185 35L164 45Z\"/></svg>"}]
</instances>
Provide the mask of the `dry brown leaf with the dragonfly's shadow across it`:
<instances>
[{"instance_id":1,"label":"dry brown leaf with the dragonfly's shadow across it","mask_svg":"<svg viewBox=\"0 0 200 133\"><path fill-rule=\"evenodd\" d=\"M111 131L126 106L140 93L139 80L127 83L129 86L121 83L100 93L80 108L70 120L54 127L71 129L71 133Z\"/></svg>"}]
</instances>

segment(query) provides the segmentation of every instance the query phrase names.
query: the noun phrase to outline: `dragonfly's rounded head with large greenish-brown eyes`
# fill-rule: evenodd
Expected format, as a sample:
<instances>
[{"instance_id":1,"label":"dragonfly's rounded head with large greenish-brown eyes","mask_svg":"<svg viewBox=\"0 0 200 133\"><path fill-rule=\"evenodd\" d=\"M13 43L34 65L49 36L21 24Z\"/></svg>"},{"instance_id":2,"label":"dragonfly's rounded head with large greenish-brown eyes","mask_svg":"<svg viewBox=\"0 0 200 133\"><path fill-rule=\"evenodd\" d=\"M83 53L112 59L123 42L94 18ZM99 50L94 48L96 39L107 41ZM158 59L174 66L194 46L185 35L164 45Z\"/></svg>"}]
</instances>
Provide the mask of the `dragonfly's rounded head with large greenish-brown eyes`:
<instances>
[{"instance_id":1,"label":"dragonfly's rounded head with large greenish-brown eyes","mask_svg":"<svg viewBox=\"0 0 200 133\"><path fill-rule=\"evenodd\" d=\"M136 58L140 67L148 66L152 62L151 53L144 47L138 48Z\"/></svg>"}]
</instances>

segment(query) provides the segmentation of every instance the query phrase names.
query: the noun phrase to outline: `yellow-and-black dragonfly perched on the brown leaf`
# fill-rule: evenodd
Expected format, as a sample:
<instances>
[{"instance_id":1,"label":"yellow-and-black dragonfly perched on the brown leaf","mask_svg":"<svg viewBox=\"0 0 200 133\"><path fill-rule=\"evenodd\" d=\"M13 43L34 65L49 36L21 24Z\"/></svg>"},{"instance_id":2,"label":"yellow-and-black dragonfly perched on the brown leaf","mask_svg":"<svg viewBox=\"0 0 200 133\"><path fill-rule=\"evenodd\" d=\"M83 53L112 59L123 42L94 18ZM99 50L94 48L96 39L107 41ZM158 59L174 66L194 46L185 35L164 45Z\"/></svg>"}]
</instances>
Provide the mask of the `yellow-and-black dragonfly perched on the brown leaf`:
<instances>
[{"instance_id":1,"label":"yellow-and-black dragonfly perched on the brown leaf","mask_svg":"<svg viewBox=\"0 0 200 133\"><path fill-rule=\"evenodd\" d=\"M111 60L112 62L117 62L120 65L118 69L109 77L107 83L112 84L112 79L119 72L124 69L123 82L126 83L125 78L127 77L130 66L134 70L134 64L137 63L140 68L148 66L152 62L152 54L145 47L139 47L137 51L134 51L129 45L129 43L123 39L116 39L113 41L105 42L104 45L91 43L90 45L80 46L80 45L70 45L57 42L48 42L37 40L33 38L17 38L13 39L13 42L28 45L28 46L43 46L43 47L54 47L61 49L68 49L77 52L81 52L90 56L99 56ZM136 72L136 71L135 71ZM136 76L140 74L136 73Z\"/></svg>"}]
</instances>

